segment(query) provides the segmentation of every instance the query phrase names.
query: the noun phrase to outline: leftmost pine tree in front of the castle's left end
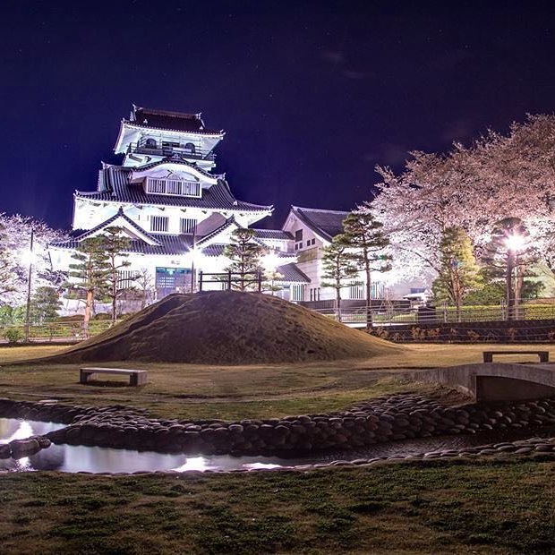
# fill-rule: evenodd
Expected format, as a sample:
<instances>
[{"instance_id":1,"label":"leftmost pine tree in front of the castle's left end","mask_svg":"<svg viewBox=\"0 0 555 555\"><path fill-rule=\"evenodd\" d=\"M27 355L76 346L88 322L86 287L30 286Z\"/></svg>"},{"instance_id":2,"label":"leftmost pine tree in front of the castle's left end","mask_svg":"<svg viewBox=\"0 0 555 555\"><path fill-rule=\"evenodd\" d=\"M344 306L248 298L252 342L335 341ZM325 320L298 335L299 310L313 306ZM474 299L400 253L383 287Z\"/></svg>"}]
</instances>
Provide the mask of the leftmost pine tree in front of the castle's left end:
<instances>
[{"instance_id":1,"label":"leftmost pine tree in front of the castle's left end","mask_svg":"<svg viewBox=\"0 0 555 555\"><path fill-rule=\"evenodd\" d=\"M104 237L98 235L81 241L77 247L77 252L73 254L73 258L77 261L69 265L69 275L76 279L71 285L85 292L83 327L87 330L93 301L107 294L110 266Z\"/></svg>"}]
</instances>

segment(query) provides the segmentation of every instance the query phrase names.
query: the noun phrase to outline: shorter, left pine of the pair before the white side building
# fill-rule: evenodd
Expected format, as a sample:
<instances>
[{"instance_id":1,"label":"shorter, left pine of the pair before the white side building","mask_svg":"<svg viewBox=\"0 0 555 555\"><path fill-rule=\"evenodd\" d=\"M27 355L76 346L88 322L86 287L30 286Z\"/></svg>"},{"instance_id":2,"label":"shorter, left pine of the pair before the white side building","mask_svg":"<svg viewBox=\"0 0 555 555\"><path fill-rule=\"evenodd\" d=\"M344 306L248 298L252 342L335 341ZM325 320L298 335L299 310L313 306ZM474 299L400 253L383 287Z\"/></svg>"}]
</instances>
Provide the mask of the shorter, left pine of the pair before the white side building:
<instances>
[{"instance_id":1,"label":"shorter, left pine of the pair before the white side building","mask_svg":"<svg viewBox=\"0 0 555 555\"><path fill-rule=\"evenodd\" d=\"M345 236L336 235L329 246L324 248L322 258L322 287L336 290L336 318L341 321L341 289L348 286L347 280L358 275L358 268L346 246Z\"/></svg>"}]
</instances>

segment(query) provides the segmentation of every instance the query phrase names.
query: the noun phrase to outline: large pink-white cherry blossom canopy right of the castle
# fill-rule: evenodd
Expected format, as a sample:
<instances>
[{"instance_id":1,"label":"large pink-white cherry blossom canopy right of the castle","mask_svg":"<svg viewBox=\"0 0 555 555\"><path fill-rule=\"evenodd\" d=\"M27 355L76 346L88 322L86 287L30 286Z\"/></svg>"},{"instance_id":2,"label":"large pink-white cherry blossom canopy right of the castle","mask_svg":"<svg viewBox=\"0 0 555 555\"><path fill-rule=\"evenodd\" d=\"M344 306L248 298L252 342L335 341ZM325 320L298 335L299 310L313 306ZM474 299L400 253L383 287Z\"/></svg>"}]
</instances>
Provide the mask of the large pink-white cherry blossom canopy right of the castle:
<instances>
[{"instance_id":1,"label":"large pink-white cherry blossom canopy right of the castle","mask_svg":"<svg viewBox=\"0 0 555 555\"><path fill-rule=\"evenodd\" d=\"M371 204L400 275L437 275L441 238L453 226L465 230L480 260L505 218L521 220L545 261L555 260L555 115L529 115L506 134L489 131L468 147L410 157L399 175L377 167L382 183Z\"/></svg>"}]
</instances>

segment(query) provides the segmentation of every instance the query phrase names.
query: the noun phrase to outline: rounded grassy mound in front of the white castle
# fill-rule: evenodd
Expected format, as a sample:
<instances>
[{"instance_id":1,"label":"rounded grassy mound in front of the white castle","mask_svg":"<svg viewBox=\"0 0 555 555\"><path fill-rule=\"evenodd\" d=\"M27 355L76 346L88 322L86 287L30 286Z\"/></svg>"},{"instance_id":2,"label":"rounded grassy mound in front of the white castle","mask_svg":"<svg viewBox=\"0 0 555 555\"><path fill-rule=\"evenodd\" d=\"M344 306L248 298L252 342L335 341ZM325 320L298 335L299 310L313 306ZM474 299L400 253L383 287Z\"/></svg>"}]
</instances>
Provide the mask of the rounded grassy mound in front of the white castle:
<instances>
[{"instance_id":1,"label":"rounded grassy mound in front of the white castle","mask_svg":"<svg viewBox=\"0 0 555 555\"><path fill-rule=\"evenodd\" d=\"M170 295L49 360L199 364L367 358L403 348L269 295Z\"/></svg>"}]
</instances>

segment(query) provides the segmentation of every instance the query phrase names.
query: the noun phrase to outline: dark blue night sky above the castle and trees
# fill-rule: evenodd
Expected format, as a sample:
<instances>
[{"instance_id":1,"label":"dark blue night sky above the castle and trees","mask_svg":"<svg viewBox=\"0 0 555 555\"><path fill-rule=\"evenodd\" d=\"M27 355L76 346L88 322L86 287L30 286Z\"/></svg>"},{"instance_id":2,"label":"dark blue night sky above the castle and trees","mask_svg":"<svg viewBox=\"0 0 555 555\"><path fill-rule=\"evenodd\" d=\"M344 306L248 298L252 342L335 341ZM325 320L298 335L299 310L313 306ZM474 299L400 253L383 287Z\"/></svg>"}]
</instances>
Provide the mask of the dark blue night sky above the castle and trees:
<instances>
[{"instance_id":1,"label":"dark blue night sky above the castle and trees","mask_svg":"<svg viewBox=\"0 0 555 555\"><path fill-rule=\"evenodd\" d=\"M235 196L351 209L376 164L555 111L551 2L3 3L0 211L71 224L132 103L224 129Z\"/></svg>"}]
</instances>

